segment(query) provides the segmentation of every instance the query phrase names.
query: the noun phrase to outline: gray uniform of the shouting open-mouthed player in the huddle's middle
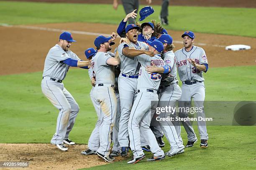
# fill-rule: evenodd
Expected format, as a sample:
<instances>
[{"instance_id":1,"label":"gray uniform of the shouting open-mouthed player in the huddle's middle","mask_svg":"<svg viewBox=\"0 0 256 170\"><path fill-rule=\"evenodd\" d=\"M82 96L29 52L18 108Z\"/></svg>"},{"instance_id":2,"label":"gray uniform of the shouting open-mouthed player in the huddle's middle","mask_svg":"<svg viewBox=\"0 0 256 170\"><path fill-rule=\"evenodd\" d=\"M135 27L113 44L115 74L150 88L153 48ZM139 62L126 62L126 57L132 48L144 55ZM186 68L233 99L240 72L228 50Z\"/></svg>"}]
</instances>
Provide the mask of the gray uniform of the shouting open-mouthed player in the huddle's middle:
<instances>
[{"instance_id":1,"label":"gray uniform of the shouting open-mouthed player in the huddle's middle","mask_svg":"<svg viewBox=\"0 0 256 170\"><path fill-rule=\"evenodd\" d=\"M133 44L137 50L148 50L148 45L144 42L137 41ZM125 42L118 46L118 53L120 57L120 75L118 77L118 91L120 95L121 116L119 121L118 141L121 147L128 147L128 120L133 107L133 102L137 96L137 82L140 64L134 58L123 55L123 48L127 46ZM141 145L148 145L145 140L141 140Z\"/></svg>"}]
</instances>

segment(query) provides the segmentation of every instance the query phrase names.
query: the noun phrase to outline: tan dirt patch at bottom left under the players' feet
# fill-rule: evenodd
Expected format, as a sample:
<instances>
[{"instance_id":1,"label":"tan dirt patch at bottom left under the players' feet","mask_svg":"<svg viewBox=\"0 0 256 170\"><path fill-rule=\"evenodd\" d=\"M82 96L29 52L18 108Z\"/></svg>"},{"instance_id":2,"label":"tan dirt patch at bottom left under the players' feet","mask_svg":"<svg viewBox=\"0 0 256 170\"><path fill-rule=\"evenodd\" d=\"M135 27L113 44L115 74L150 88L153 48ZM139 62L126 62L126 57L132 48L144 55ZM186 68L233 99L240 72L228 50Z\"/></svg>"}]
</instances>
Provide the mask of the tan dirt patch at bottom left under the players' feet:
<instances>
[{"instance_id":1,"label":"tan dirt patch at bottom left under the players' feet","mask_svg":"<svg viewBox=\"0 0 256 170\"><path fill-rule=\"evenodd\" d=\"M81 155L87 145L70 145L67 152L51 144L0 143L0 161L28 161L31 170L77 170L106 164L97 155ZM120 161L118 157L115 161ZM8 168L0 168L8 170ZM17 169L17 168L10 168Z\"/></svg>"}]
</instances>

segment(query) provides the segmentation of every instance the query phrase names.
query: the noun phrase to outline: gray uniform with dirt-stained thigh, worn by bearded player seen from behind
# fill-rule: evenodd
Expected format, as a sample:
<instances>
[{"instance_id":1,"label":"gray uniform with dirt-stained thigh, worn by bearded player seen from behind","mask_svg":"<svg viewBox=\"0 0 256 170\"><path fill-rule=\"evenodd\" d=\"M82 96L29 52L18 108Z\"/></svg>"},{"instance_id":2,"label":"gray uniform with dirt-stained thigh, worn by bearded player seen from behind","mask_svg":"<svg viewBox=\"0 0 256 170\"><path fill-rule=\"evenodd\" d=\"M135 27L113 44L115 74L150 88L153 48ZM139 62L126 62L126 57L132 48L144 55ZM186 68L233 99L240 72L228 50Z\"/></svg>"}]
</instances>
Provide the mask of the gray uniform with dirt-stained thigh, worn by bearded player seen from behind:
<instances>
[{"instance_id":1,"label":"gray uniform with dirt-stained thigh, worn by bearded player seen from behind","mask_svg":"<svg viewBox=\"0 0 256 170\"><path fill-rule=\"evenodd\" d=\"M98 153L108 156L110 153L111 132L115 123L117 100L115 97L114 67L107 64L111 56L106 52L97 52L92 57L93 76L96 85L92 96L97 105L100 105L100 147Z\"/></svg>"}]
</instances>

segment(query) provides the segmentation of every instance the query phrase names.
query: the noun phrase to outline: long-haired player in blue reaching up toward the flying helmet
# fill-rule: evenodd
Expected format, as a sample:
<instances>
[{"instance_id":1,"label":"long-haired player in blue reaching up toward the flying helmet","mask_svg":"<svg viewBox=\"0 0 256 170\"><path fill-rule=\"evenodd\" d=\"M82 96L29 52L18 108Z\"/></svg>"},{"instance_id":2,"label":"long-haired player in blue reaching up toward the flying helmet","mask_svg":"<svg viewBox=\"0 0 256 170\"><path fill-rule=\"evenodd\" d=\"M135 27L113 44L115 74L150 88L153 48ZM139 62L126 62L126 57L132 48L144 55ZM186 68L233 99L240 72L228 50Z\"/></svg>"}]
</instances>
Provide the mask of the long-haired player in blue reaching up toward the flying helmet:
<instances>
[{"instance_id":1,"label":"long-haired player in blue reaching up toward the flying helmet","mask_svg":"<svg viewBox=\"0 0 256 170\"><path fill-rule=\"evenodd\" d=\"M120 37L125 37L125 25L127 23L128 18L136 18L136 10L133 10L133 12L129 13L128 15L125 16L125 18L121 21L121 23L118 26L117 33L120 35ZM151 22L143 23L141 24L142 28L142 33L138 35L138 41L141 42L146 42L147 40L149 41L154 41L156 39L155 36L153 36L154 33L154 24Z\"/></svg>"}]
</instances>

